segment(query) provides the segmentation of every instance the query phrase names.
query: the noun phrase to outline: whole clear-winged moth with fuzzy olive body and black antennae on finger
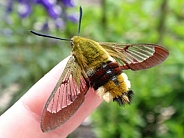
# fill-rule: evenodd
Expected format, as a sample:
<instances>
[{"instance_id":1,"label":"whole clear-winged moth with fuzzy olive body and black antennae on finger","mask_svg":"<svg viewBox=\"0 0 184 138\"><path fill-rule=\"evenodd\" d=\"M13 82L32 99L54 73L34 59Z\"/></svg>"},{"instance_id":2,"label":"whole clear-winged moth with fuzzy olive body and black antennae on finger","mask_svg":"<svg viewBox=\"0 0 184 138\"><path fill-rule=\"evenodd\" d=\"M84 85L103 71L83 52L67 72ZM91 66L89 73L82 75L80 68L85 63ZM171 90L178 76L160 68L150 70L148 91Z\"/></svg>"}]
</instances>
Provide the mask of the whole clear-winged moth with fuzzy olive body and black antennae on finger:
<instances>
[{"instance_id":1,"label":"whole clear-winged moth with fuzzy olive body and black antennae on finger","mask_svg":"<svg viewBox=\"0 0 184 138\"><path fill-rule=\"evenodd\" d=\"M78 34L82 8L80 7ZM130 104L133 91L123 70L151 68L163 62L169 52L156 44L95 42L81 36L71 39L31 31L35 35L70 41L72 54L48 98L41 117L41 129L47 132L65 123L79 109L89 88L106 102Z\"/></svg>"}]
</instances>

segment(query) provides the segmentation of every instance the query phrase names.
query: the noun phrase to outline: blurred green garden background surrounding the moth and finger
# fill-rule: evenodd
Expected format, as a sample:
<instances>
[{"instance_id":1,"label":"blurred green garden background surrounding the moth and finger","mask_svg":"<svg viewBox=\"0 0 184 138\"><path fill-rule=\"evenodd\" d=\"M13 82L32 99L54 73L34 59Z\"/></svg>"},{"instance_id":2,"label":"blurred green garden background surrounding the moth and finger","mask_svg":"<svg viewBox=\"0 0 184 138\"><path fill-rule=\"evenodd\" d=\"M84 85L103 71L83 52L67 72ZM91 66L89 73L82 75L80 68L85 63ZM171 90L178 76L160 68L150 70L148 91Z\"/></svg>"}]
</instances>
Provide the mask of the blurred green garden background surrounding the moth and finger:
<instances>
[{"instance_id":1,"label":"blurred green garden background surrounding the moth and finger","mask_svg":"<svg viewBox=\"0 0 184 138\"><path fill-rule=\"evenodd\" d=\"M69 137L183 138L183 0L74 0L75 4L67 1L68 5L58 0L52 4L60 14L52 13L41 0L28 6L24 1L0 2L0 114L70 54L68 42L37 37L29 30L71 38L77 35L81 5L81 36L95 41L156 43L167 48L170 56L154 68L125 71L135 93L132 104L120 107L103 102L90 121Z\"/></svg>"}]
</instances>

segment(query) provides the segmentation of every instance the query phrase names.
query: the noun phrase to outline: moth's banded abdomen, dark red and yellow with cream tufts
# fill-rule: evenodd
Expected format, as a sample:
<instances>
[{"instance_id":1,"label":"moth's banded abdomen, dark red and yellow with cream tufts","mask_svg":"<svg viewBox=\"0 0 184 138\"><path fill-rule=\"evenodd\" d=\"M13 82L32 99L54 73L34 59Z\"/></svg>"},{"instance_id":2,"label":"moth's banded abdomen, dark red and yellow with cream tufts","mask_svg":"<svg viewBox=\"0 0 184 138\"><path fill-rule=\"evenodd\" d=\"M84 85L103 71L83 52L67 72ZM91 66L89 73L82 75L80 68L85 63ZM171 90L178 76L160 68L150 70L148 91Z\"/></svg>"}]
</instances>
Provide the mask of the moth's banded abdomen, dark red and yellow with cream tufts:
<instances>
[{"instance_id":1,"label":"moth's banded abdomen, dark red and yellow with cream tufts","mask_svg":"<svg viewBox=\"0 0 184 138\"><path fill-rule=\"evenodd\" d=\"M117 62L109 61L89 76L90 85L106 102L117 101L120 105L130 103L132 91L130 81L122 73Z\"/></svg>"}]
</instances>

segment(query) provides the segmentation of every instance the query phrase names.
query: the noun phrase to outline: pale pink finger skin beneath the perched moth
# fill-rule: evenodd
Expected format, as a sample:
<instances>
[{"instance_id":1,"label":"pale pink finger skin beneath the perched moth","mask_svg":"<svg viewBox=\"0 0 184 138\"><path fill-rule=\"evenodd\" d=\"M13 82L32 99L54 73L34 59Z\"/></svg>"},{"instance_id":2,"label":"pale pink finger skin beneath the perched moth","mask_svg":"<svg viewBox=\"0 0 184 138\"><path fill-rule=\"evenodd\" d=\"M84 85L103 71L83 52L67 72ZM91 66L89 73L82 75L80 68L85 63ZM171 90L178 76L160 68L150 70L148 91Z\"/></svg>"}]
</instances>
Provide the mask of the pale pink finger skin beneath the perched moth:
<instances>
[{"instance_id":1,"label":"pale pink finger skin beneath the perched moth","mask_svg":"<svg viewBox=\"0 0 184 138\"><path fill-rule=\"evenodd\" d=\"M102 102L90 89L78 111L61 127L43 133L40 129L42 109L56 85L68 58L40 79L19 101L0 117L3 138L65 138Z\"/></svg>"}]
</instances>

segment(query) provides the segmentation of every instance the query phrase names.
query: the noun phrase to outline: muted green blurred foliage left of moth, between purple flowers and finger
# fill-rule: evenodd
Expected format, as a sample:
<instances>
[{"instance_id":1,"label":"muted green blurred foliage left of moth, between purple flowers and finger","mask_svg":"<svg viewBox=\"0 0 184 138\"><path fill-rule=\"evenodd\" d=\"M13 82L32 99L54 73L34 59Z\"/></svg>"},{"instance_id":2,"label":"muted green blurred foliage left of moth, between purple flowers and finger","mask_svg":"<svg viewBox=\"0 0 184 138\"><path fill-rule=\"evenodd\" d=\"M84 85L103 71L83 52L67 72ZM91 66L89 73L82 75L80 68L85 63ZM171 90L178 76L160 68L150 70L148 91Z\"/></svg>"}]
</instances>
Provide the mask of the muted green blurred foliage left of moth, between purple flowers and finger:
<instances>
[{"instance_id":1,"label":"muted green blurred foliage left of moth, between purple flowers and finger","mask_svg":"<svg viewBox=\"0 0 184 138\"><path fill-rule=\"evenodd\" d=\"M0 105L0 114L15 103L34 83L52 69L62 59L67 57L71 47L66 42L41 38L30 33L40 22L49 20L43 7L35 7L29 18L21 19L17 13L9 17L10 24L1 22L0 37L0 97L4 97L14 84L15 90L7 105ZM4 11L0 11L3 19ZM40 17L38 17L40 15ZM72 26L75 24L71 23ZM34 28L35 27L35 28ZM76 27L77 28L77 27ZM63 28L64 29L64 28ZM44 30L47 31L47 30ZM50 34L61 36L64 30L53 30ZM64 34L64 33L63 33ZM63 35L61 37L67 37ZM3 99L1 99L3 100Z\"/></svg>"}]
</instances>

